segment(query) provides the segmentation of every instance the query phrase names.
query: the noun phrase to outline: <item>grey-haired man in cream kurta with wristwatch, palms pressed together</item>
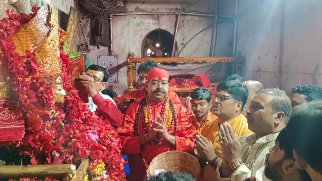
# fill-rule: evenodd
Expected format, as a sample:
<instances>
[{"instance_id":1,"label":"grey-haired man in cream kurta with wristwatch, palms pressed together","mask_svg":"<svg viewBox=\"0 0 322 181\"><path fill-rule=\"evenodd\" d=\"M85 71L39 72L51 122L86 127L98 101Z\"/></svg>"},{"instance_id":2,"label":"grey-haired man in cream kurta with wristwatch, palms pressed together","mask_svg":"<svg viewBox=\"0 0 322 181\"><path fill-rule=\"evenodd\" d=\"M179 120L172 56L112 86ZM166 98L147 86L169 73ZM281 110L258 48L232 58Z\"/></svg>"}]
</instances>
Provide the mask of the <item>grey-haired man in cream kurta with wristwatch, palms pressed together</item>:
<instances>
[{"instance_id":1,"label":"grey-haired man in cream kurta with wristwatch, palms pressed together","mask_svg":"<svg viewBox=\"0 0 322 181\"><path fill-rule=\"evenodd\" d=\"M217 164L218 180L242 181L251 176L259 181L269 180L263 174L265 157L291 117L291 102L282 90L262 89L246 113L248 128L254 134L238 139L229 124L220 126L223 160Z\"/></svg>"}]
</instances>

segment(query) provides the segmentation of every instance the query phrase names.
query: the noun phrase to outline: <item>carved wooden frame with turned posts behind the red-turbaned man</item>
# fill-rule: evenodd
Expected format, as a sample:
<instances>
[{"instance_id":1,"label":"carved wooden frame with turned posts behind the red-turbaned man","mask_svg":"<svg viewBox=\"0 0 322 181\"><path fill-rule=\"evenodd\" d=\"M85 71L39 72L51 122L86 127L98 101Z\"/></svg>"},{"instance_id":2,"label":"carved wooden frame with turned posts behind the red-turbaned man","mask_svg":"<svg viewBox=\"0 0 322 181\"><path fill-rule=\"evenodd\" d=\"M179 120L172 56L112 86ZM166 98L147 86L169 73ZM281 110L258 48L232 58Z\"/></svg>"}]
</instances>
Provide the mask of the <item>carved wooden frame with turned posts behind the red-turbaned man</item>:
<instances>
[{"instance_id":1,"label":"carved wooden frame with turned posts behind the red-turbaned man","mask_svg":"<svg viewBox=\"0 0 322 181\"><path fill-rule=\"evenodd\" d=\"M156 63L171 63L171 62L176 62L176 63L194 63L194 62L232 62L235 61L237 62L236 69L238 74L241 74L241 69L242 69L242 53L238 53L238 57L198 57L198 58L191 58L191 57L177 57L177 58L134 58L134 53L129 52L128 53L128 91L132 92L134 90L134 84L136 81L136 73L135 73L135 66L136 63L143 63L146 62L147 60L152 60ZM235 70L236 70L235 69ZM213 87L209 87L208 89L211 90ZM185 96L190 96L190 93L193 91L192 90L173 90L175 91L180 99ZM185 96L183 96L185 95Z\"/></svg>"}]
</instances>

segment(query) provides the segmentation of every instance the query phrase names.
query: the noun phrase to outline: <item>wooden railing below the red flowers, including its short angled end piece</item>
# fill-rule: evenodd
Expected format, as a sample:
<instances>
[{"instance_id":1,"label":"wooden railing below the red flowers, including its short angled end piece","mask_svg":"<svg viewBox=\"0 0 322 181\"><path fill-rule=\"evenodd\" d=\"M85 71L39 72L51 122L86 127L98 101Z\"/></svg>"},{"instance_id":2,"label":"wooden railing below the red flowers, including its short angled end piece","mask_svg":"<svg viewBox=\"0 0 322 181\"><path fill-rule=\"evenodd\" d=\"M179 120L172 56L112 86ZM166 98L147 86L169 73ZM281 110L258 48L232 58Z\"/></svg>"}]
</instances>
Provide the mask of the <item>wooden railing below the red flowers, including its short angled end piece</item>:
<instances>
[{"instance_id":1,"label":"wooden railing below the red flowers, including its short angled end piece","mask_svg":"<svg viewBox=\"0 0 322 181\"><path fill-rule=\"evenodd\" d=\"M87 175L89 160L85 159L76 170L72 164L62 165L26 165L26 166L0 166L0 178L35 178L45 180L46 177L62 178L63 181L83 181Z\"/></svg>"}]
</instances>

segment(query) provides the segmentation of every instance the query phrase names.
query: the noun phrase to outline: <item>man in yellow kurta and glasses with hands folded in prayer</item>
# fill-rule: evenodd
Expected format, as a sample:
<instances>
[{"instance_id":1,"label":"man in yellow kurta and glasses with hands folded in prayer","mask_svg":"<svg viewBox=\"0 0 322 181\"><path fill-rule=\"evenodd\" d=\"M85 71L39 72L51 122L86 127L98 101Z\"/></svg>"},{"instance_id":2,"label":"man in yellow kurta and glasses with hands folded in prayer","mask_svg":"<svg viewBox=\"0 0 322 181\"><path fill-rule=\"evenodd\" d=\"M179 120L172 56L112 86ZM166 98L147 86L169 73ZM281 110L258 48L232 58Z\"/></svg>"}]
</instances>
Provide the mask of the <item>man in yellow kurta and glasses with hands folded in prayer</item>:
<instances>
[{"instance_id":1,"label":"man in yellow kurta and glasses with hands folded in prayer","mask_svg":"<svg viewBox=\"0 0 322 181\"><path fill-rule=\"evenodd\" d=\"M217 119L208 121L201 131L201 136L195 138L195 147L201 156L200 161L206 162L202 170L204 181L216 180L217 175L214 166L218 157L223 157L220 141L219 126L224 122L231 125L232 130L240 138L250 135L247 119L242 115L244 105L248 98L248 90L238 81L223 81L217 86L213 102L213 113Z\"/></svg>"}]
</instances>

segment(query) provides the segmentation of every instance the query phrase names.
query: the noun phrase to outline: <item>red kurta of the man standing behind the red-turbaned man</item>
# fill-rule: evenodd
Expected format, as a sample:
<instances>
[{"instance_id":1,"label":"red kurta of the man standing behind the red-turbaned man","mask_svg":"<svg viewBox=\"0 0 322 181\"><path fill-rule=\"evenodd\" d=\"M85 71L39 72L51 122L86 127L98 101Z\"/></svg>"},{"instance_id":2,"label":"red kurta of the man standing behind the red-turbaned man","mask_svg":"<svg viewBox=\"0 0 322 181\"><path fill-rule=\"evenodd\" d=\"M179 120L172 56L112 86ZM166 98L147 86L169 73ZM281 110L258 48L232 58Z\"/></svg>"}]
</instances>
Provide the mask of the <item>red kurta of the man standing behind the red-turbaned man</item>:
<instances>
[{"instance_id":1,"label":"red kurta of the man standing behind the red-turbaned man","mask_svg":"<svg viewBox=\"0 0 322 181\"><path fill-rule=\"evenodd\" d=\"M144 89L145 90L145 89ZM169 90L168 96L172 102L181 103L179 96L172 90ZM134 90L133 92L123 93L120 97L115 97L113 100L115 103L119 103L122 98L135 99L140 101L145 97L145 93L141 94L141 90Z\"/></svg>"}]
</instances>

